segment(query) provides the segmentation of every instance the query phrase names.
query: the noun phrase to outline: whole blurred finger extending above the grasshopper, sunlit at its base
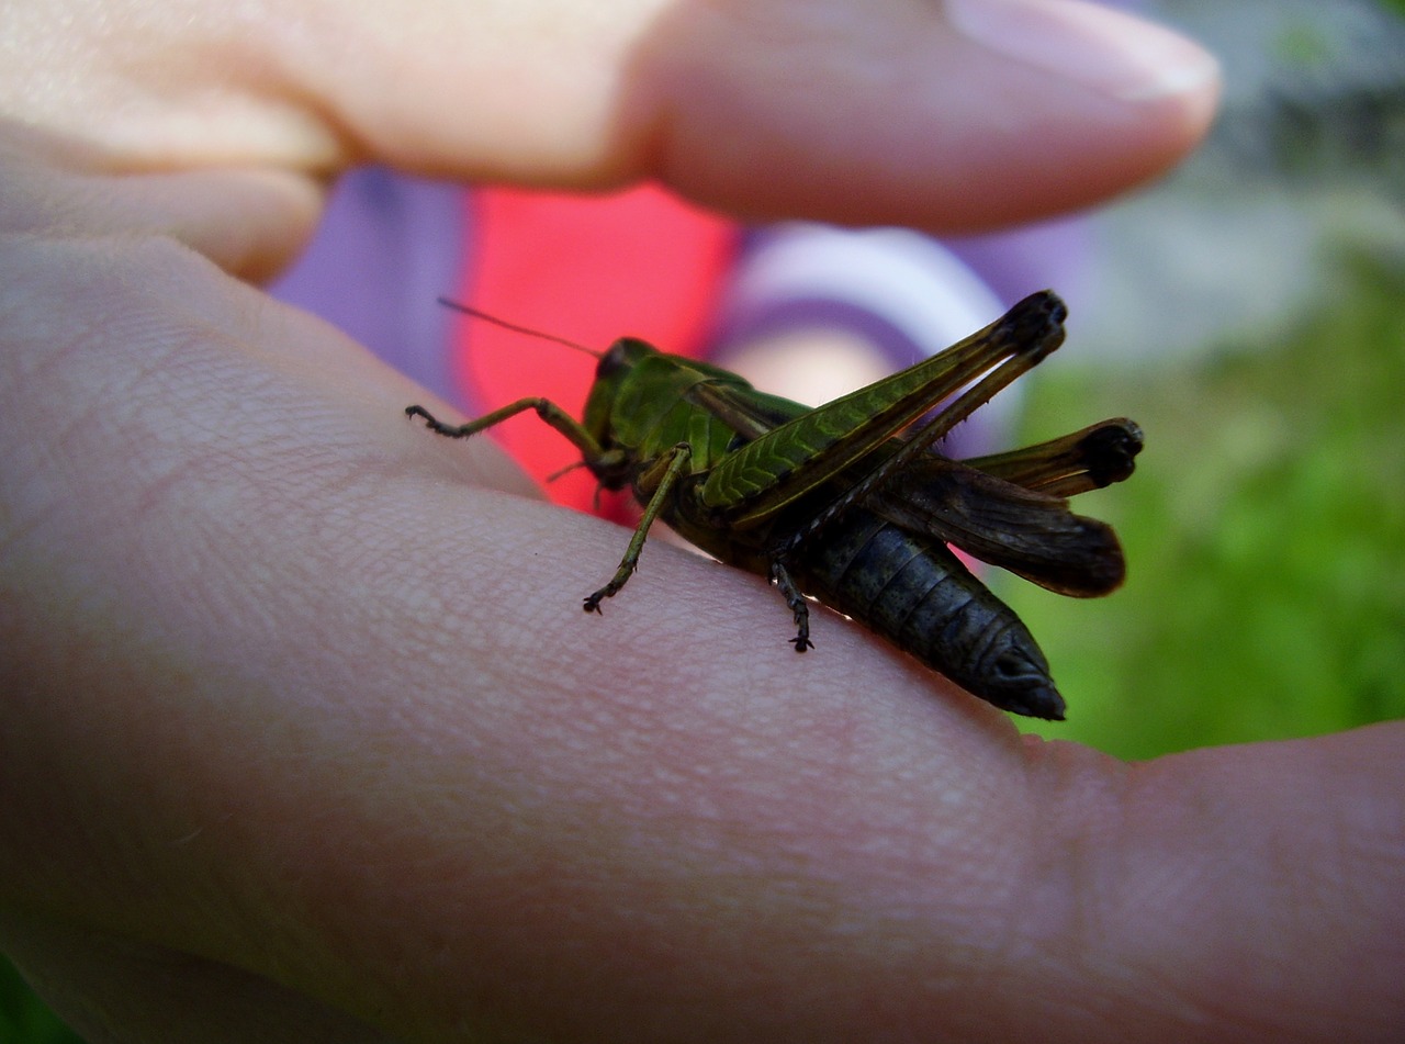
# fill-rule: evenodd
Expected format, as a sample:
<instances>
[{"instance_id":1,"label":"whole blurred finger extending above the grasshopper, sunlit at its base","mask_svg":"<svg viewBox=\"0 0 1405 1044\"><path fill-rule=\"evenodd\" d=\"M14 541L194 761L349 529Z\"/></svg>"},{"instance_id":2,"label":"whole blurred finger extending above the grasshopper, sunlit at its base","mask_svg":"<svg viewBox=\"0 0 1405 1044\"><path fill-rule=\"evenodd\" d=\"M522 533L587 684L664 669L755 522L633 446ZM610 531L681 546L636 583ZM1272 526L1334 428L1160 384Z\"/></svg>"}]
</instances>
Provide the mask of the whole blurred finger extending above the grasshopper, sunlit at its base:
<instances>
[{"instance_id":1,"label":"whole blurred finger extending above the grasshopper, sunlit at its base","mask_svg":"<svg viewBox=\"0 0 1405 1044\"><path fill-rule=\"evenodd\" d=\"M1069 0L142 10L74 27L87 76L63 91L15 69L18 105L128 164L662 177L770 216L953 229L1085 205L1183 155L1217 93L1198 48Z\"/></svg>"}]
</instances>

